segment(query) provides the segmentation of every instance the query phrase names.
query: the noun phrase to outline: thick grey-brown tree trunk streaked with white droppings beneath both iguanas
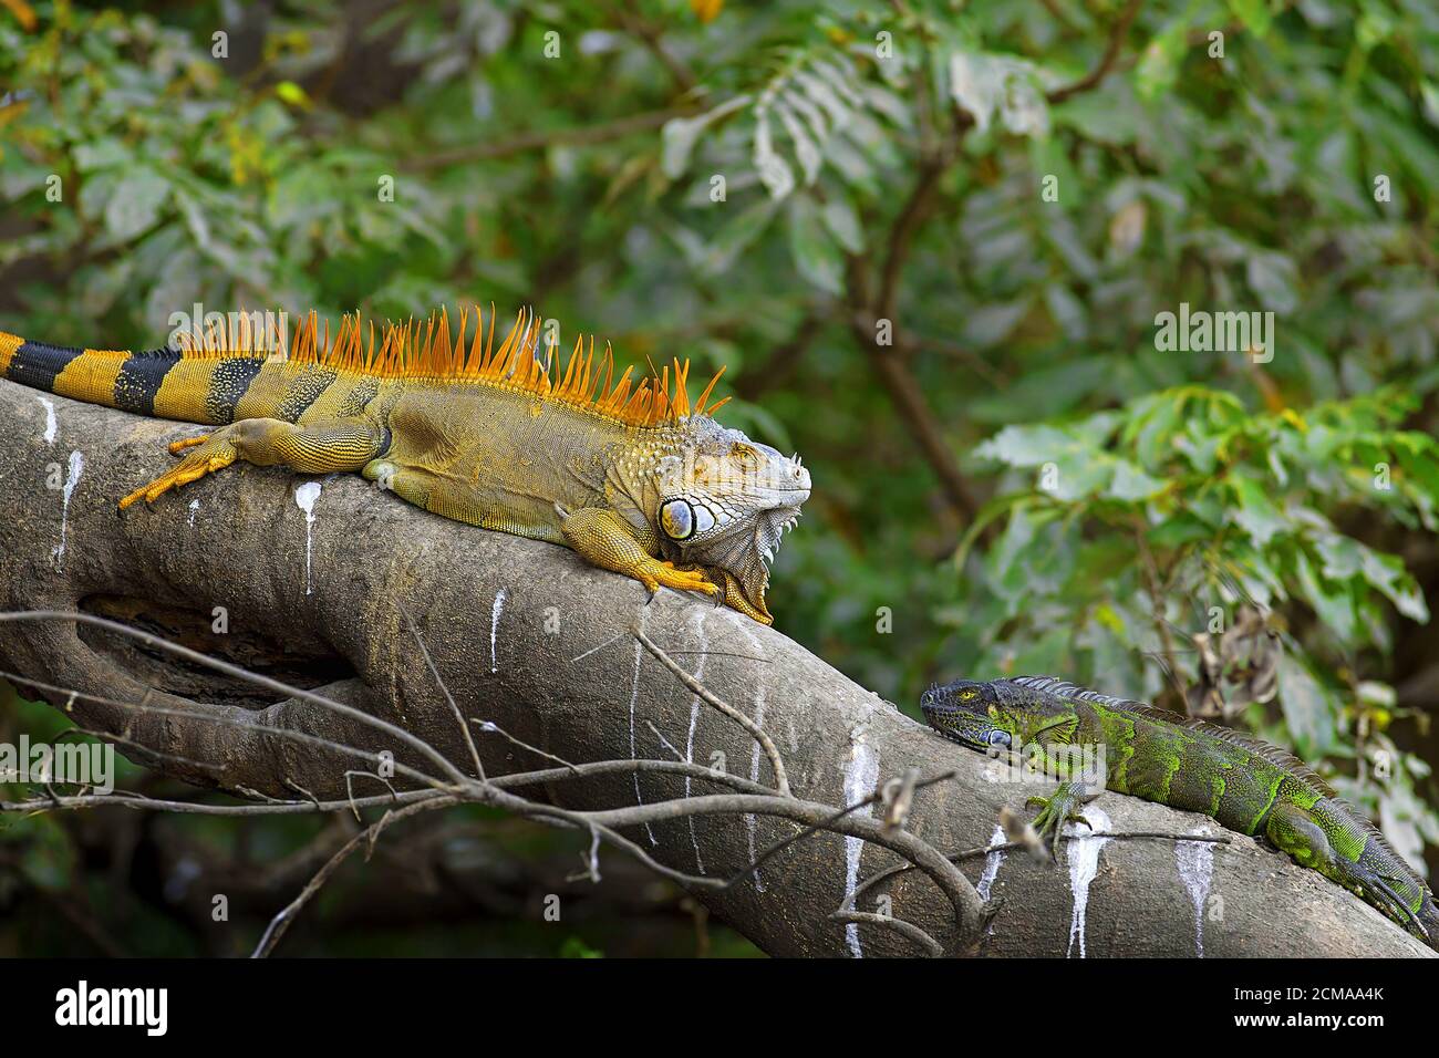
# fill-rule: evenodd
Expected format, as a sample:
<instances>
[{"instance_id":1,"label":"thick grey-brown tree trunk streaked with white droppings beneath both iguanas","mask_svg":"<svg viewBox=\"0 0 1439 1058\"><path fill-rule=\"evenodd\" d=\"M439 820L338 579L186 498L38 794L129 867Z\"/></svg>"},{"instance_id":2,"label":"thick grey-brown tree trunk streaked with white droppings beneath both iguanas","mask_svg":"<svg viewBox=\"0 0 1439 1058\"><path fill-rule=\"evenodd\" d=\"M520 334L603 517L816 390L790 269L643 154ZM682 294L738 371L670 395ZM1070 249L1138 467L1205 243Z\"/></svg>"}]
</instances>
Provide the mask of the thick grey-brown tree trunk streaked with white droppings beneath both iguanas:
<instances>
[{"instance_id":1,"label":"thick grey-brown tree trunk streaked with white droppings beneath both iguanas","mask_svg":"<svg viewBox=\"0 0 1439 1058\"><path fill-rule=\"evenodd\" d=\"M46 402L53 406L52 439ZM463 766L453 715L404 630L403 603L466 715L494 720L574 761L669 756L652 723L695 761L722 754L727 770L753 770L770 782L754 743L642 652L629 632L642 622L711 689L763 723L800 797L840 805L908 766L925 776L957 770L955 780L920 792L909 816L915 833L953 851L987 845L999 809L1022 809L1035 792L993 782L991 761L938 738L777 630L671 592L646 605L637 583L590 569L564 548L443 521L357 476L319 482L312 524L295 495L314 479L253 466L118 514L117 497L170 461L164 442L194 429L0 381L0 609L85 609L164 630L301 687L322 688L409 728ZM47 478L60 488L47 488ZM773 603L783 626L783 584ZM214 607L227 613L224 635L212 630ZM255 688L160 661L73 623L0 625L0 666L109 698L138 701L153 691L155 705L235 721L73 707L83 725L128 731L130 740L163 754L147 763L194 782L276 797L294 797L295 790L344 796L342 772L353 761L256 731L256 723L391 749L419 763L371 728L318 707L269 701ZM491 773L545 763L496 736L478 740ZM364 783L358 780L358 792L378 792ZM558 783L548 795L570 808L623 806L637 795L681 795L684 785L645 776L636 787L625 776ZM696 793L711 792L705 787L691 785ZM1104 795L1095 808L1117 832L1217 832L1212 820L1131 797ZM637 828L632 836L662 862L714 875L735 871L751 849L793 832L780 820L701 816ZM1204 851L1213 854L1207 882ZM1084 859L1055 868L1007 855L993 878L991 892L1004 905L986 953L1078 954L1082 933L1089 956L1193 956L1199 900L1206 907L1206 956L1427 954L1354 897L1240 835L1215 846L1109 841L1086 892L1073 877ZM909 954L911 941L894 931L868 924L846 930L827 918L845 897L848 877L858 869L863 878L892 862L884 849L859 851L843 838L817 835L767 862L760 884L705 898L774 954ZM977 881L981 867L971 861L966 871ZM896 915L940 939L953 936L953 910L928 880L909 872L882 891ZM1076 901L1076 892L1086 900ZM859 907L873 910L871 895Z\"/></svg>"}]
</instances>

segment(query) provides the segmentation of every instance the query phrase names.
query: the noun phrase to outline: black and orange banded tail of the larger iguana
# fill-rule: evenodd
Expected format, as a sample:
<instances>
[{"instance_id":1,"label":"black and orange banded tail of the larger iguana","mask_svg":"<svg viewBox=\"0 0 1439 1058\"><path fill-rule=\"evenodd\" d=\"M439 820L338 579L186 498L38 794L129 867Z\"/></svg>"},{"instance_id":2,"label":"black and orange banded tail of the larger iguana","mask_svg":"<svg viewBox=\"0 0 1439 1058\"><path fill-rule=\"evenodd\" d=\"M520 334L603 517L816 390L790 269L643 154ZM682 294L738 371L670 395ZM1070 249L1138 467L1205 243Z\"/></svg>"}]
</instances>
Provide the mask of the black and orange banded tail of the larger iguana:
<instances>
[{"instance_id":1,"label":"black and orange banded tail of the larger iguana","mask_svg":"<svg viewBox=\"0 0 1439 1058\"><path fill-rule=\"evenodd\" d=\"M88 404L210 426L233 420L236 403L263 364L265 357L252 354L73 348L0 331L0 379Z\"/></svg>"}]
</instances>

